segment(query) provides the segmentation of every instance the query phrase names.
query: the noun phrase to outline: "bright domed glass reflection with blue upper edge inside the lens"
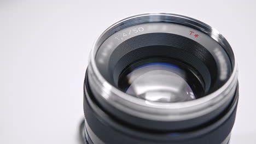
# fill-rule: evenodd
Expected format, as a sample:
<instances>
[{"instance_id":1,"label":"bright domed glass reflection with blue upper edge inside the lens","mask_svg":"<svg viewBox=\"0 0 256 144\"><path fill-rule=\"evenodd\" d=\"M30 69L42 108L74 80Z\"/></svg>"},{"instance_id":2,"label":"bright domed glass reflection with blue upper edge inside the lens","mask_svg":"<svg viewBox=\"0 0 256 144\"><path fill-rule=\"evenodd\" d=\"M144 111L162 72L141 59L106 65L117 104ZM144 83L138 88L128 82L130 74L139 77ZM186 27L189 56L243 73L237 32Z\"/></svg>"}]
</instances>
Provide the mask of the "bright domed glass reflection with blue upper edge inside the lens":
<instances>
[{"instance_id":1,"label":"bright domed glass reflection with blue upper edge inside the lens","mask_svg":"<svg viewBox=\"0 0 256 144\"><path fill-rule=\"evenodd\" d=\"M124 79L124 91L134 97L148 101L171 103L194 100L195 94L186 81L185 70L168 63L144 64Z\"/></svg>"}]
</instances>

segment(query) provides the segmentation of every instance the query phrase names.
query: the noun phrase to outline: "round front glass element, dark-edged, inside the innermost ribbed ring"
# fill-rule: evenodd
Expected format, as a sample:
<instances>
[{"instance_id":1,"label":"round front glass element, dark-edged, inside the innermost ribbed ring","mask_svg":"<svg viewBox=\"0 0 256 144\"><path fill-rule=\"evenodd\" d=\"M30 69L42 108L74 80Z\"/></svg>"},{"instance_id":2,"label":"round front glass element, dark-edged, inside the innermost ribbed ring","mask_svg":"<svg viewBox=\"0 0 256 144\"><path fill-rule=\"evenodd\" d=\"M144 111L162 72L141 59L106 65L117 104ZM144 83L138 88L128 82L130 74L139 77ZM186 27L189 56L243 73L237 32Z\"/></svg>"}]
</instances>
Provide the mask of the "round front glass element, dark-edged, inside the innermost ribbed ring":
<instances>
[{"instance_id":1,"label":"round front glass element, dark-edged, inside the innermost ribbed ring","mask_svg":"<svg viewBox=\"0 0 256 144\"><path fill-rule=\"evenodd\" d=\"M198 71L184 62L150 57L126 67L119 76L118 87L134 97L173 103L203 97L204 83Z\"/></svg>"}]
</instances>

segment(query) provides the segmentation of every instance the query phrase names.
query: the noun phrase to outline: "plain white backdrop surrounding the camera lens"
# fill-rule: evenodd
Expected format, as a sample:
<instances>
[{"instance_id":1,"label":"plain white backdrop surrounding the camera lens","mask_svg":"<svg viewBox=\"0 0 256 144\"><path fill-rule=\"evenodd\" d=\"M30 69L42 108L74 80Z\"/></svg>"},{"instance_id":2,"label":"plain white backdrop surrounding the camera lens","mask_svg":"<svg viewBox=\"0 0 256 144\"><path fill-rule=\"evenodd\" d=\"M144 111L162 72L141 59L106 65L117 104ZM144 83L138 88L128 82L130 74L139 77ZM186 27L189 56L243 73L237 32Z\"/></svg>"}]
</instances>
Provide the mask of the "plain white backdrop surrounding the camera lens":
<instances>
[{"instance_id":1,"label":"plain white backdrop surrounding the camera lens","mask_svg":"<svg viewBox=\"0 0 256 144\"><path fill-rule=\"evenodd\" d=\"M0 0L0 143L78 143L83 80L100 33L165 12L218 29L233 47L240 101L231 144L256 141L256 1Z\"/></svg>"}]
</instances>

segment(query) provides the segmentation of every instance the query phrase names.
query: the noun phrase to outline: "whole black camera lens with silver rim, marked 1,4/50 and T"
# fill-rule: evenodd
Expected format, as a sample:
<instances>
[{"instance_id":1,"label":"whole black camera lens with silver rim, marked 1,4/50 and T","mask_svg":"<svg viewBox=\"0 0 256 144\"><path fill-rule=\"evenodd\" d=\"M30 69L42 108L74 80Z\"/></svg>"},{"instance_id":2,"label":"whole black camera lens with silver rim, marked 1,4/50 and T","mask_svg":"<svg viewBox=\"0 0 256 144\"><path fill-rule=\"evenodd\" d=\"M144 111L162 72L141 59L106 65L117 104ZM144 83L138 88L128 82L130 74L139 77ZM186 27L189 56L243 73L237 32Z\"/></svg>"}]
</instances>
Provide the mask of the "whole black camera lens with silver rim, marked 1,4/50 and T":
<instances>
[{"instance_id":1,"label":"whole black camera lens with silver rim, marked 1,4/50 and T","mask_svg":"<svg viewBox=\"0 0 256 144\"><path fill-rule=\"evenodd\" d=\"M238 102L228 41L190 17L142 14L96 41L85 76L89 144L227 144Z\"/></svg>"}]
</instances>

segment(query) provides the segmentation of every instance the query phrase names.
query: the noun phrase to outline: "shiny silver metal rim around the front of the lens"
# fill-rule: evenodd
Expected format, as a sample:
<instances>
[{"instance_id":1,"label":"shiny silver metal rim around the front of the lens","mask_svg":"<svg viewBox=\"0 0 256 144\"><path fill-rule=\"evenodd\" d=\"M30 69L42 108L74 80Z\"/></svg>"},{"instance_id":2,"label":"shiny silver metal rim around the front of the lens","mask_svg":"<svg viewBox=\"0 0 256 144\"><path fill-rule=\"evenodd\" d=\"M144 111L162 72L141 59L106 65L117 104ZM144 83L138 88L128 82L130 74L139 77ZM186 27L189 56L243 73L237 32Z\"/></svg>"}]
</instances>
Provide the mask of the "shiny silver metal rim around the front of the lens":
<instances>
[{"instance_id":1,"label":"shiny silver metal rim around the front of the lens","mask_svg":"<svg viewBox=\"0 0 256 144\"><path fill-rule=\"evenodd\" d=\"M155 19L150 19L154 17ZM167 21L167 18L171 20ZM104 40L112 35L118 27L122 25L130 26L134 20L144 20L146 22L171 22L193 27L205 34L212 39L216 40L228 54L231 65L233 67L232 74L228 81L220 87L217 91L206 95L203 98L196 99L193 101L184 101L179 103L166 103L162 104L159 102L150 102L135 98L129 94L120 91L120 89L112 86L104 77L101 75L97 68L95 57L98 48ZM136 25L135 23L133 23ZM121 28L119 28L119 31ZM166 14L166 13L154 13L154 14L141 14L136 16L128 17L121 20L114 25L110 26L104 31L94 44L94 48L90 53L89 61L89 83L92 88L92 92L95 97L102 97L105 102L116 107L117 109L129 113L130 115L141 117L145 119L151 119L156 121L181 121L185 119L191 119L200 117L210 113L221 105L228 105L235 93L237 85L237 64L235 62L235 56L232 52L231 46L228 41L220 34L216 29L208 26L207 24L192 19L187 16Z\"/></svg>"}]
</instances>

